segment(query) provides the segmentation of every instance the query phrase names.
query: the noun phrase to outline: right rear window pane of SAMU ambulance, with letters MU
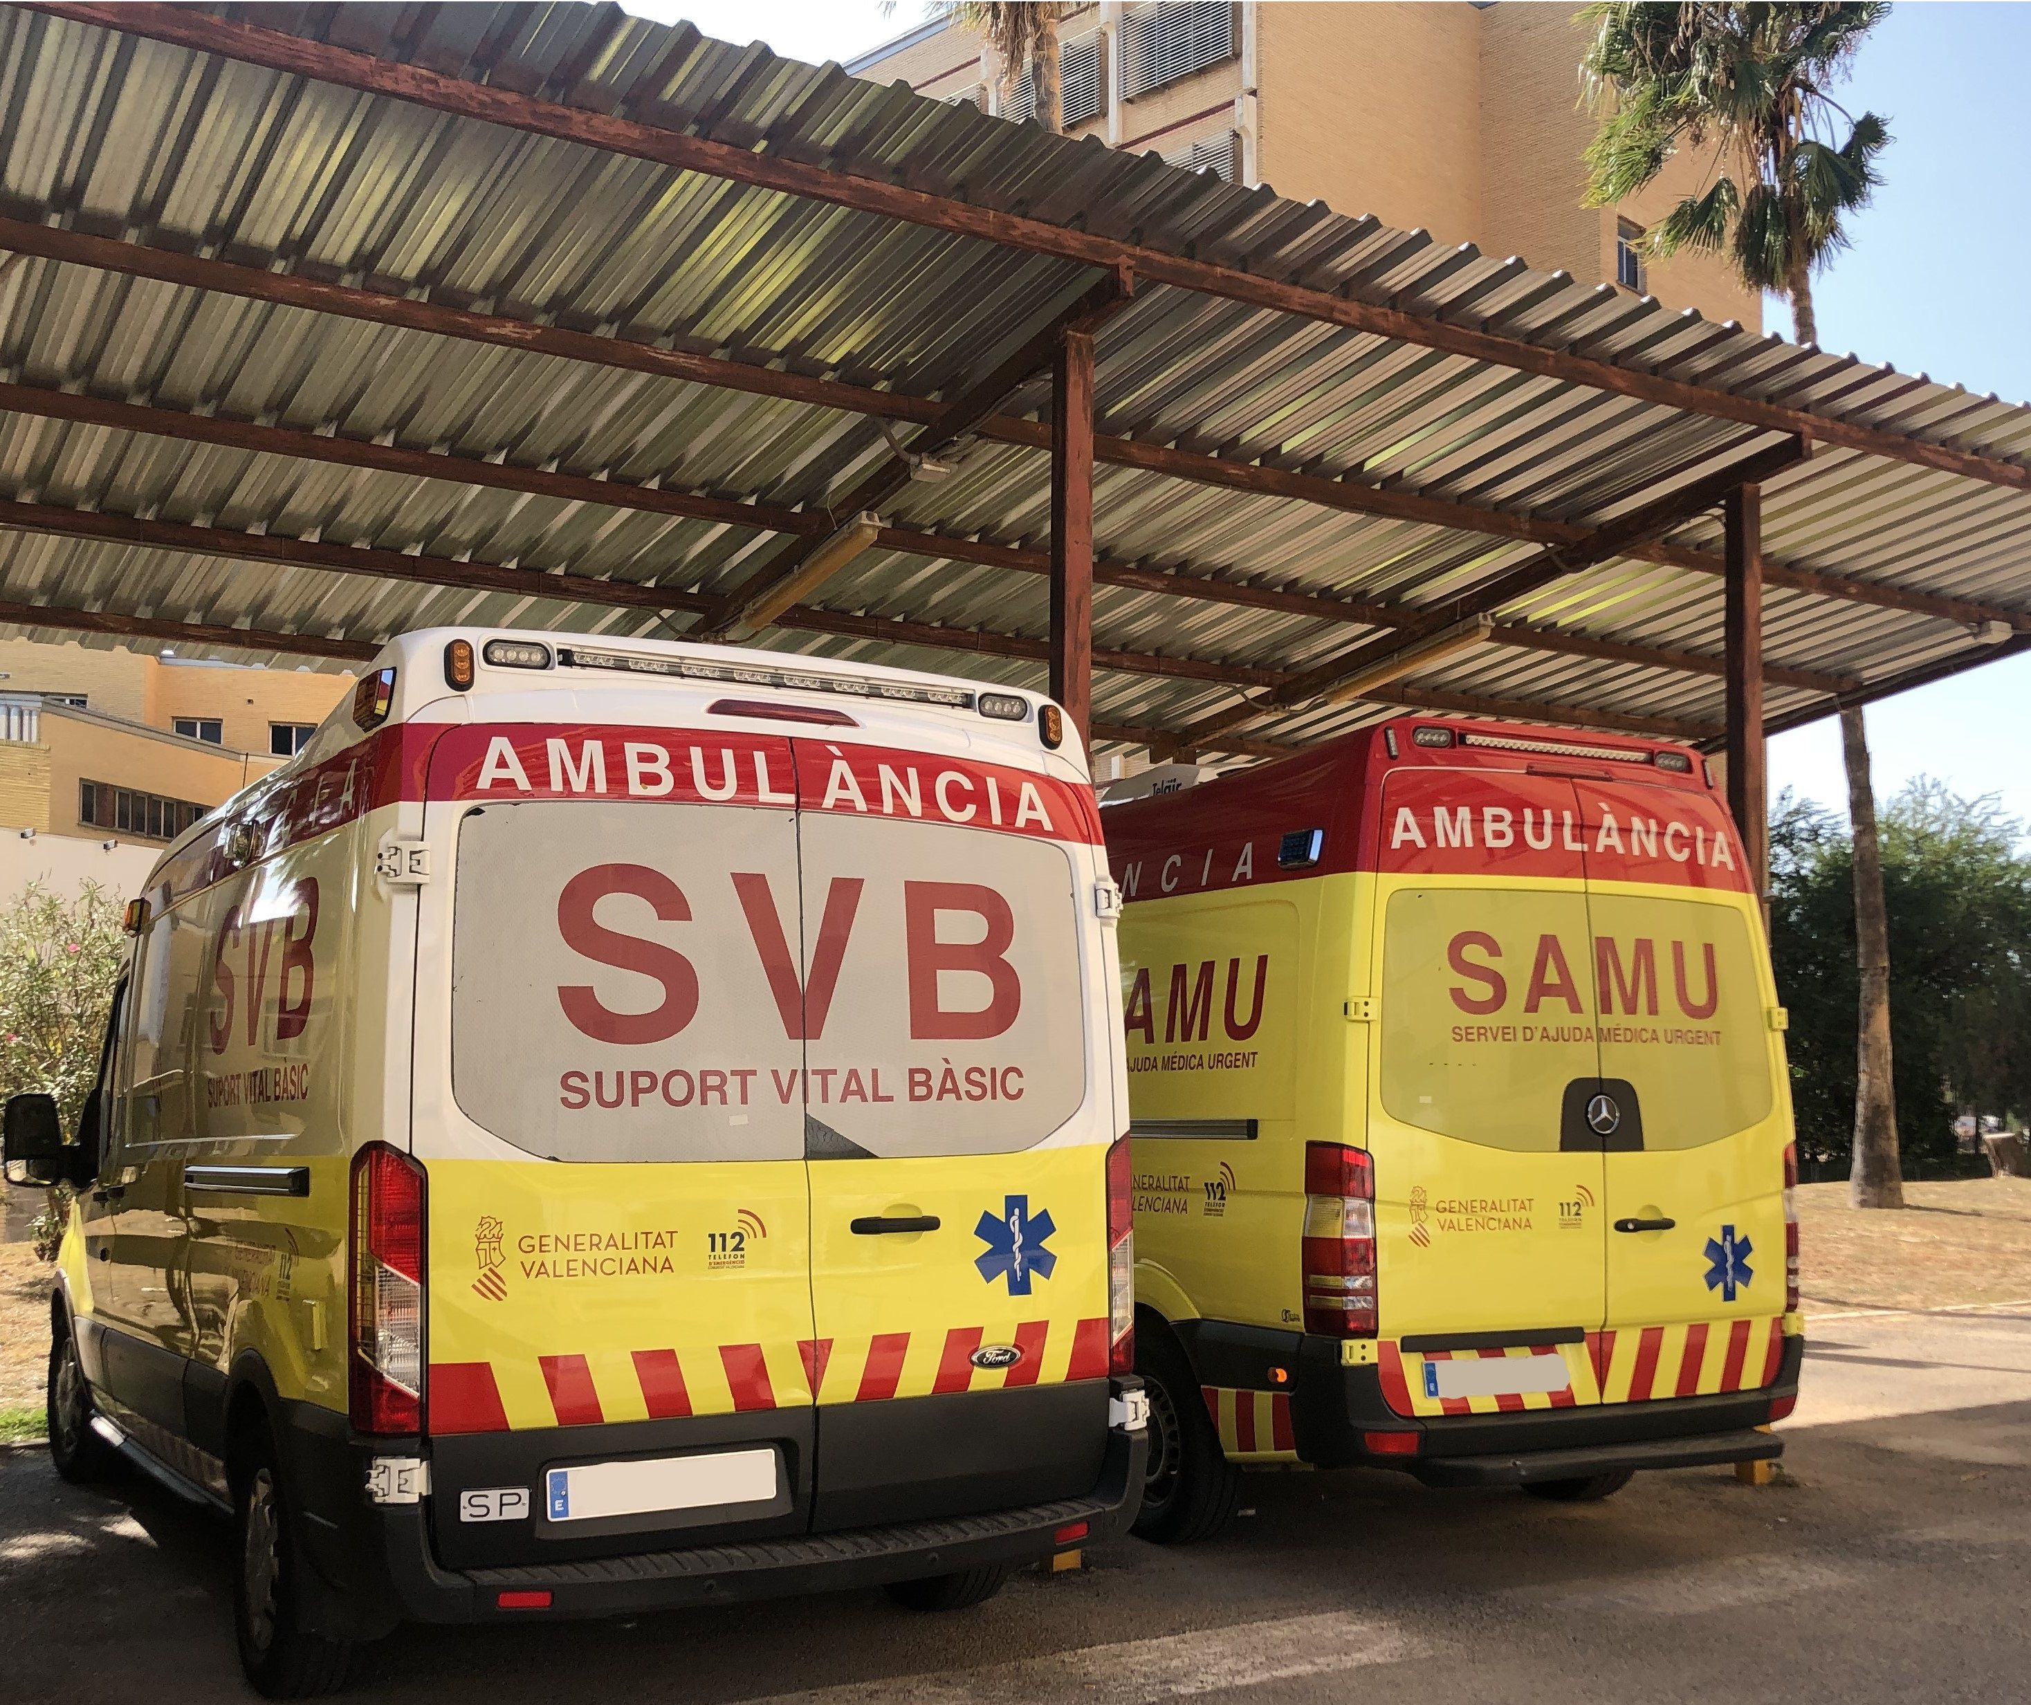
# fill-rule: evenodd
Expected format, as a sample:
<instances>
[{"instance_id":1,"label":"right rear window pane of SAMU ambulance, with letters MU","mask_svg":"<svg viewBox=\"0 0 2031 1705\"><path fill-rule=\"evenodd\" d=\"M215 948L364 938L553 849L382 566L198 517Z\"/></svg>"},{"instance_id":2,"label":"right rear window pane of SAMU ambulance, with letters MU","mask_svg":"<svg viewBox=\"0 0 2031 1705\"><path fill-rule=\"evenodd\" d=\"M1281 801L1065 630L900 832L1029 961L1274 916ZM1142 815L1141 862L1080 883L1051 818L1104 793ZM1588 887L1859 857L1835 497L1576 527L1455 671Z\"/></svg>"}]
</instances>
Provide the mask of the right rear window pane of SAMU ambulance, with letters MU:
<instances>
[{"instance_id":1,"label":"right rear window pane of SAMU ambulance, with letters MU","mask_svg":"<svg viewBox=\"0 0 2031 1705\"><path fill-rule=\"evenodd\" d=\"M1741 911L1594 893L1600 1070L1643 1102L1645 1149L1696 1149L1775 1104L1763 982Z\"/></svg>"}]
</instances>

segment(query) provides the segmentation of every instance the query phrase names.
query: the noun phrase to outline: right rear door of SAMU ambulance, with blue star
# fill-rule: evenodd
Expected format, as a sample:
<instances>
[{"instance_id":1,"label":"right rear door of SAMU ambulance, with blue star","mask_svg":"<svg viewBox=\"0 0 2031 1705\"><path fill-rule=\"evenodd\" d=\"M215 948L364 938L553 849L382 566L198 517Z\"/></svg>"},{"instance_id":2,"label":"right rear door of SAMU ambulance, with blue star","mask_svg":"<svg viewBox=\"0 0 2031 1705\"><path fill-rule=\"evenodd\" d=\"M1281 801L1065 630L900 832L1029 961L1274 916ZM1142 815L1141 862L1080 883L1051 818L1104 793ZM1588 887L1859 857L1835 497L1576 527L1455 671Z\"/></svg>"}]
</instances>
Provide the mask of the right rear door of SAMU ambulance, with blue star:
<instances>
[{"instance_id":1,"label":"right rear door of SAMU ambulance, with blue star","mask_svg":"<svg viewBox=\"0 0 2031 1705\"><path fill-rule=\"evenodd\" d=\"M1763 919L1714 794L1580 781L1600 984L1611 1403L1775 1376L1781 1051Z\"/></svg>"}]
</instances>

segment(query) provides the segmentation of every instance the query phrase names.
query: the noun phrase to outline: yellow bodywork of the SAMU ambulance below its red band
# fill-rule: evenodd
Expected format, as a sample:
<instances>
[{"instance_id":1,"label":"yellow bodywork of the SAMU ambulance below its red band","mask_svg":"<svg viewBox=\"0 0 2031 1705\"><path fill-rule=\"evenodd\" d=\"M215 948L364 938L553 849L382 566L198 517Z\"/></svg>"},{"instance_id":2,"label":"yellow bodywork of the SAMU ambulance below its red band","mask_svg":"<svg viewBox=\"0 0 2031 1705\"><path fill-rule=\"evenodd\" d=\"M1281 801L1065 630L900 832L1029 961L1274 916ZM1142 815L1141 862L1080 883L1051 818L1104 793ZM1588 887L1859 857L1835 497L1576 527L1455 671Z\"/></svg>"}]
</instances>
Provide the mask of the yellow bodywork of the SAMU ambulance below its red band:
<instances>
[{"instance_id":1,"label":"yellow bodywork of the SAMU ambulance below its red band","mask_svg":"<svg viewBox=\"0 0 2031 1705\"><path fill-rule=\"evenodd\" d=\"M1448 986L1489 997L1495 986L1462 980L1448 964L1462 930L1517 942L1558 936L1570 997L1539 1001L1550 1011L1525 1027L1525 995L1542 993L1527 982L1525 956L1505 966L1503 1009L1468 1019L1448 1005ZM1635 1013L1613 1005L1627 995L1621 986L1602 1013L1598 936L1625 944L1629 962L1611 972L1637 980ZM1659 962L1655 1015L1651 986L1635 978L1633 942L1643 938L1657 944L1649 950ZM1684 966L1672 960L1674 940L1684 944ZM1712 988L1700 958L1708 942ZM1259 954L1269 956L1261 1023L1245 1039L1225 1035L1229 966L1241 966L1235 1005L1245 1019L1247 968ZM1324 875L1131 903L1121 962L1135 1234L1139 1277L1150 1279L1139 1299L1168 1319L1300 1329L1304 1145L1328 1141L1375 1157L1381 1344L1359 1360L1379 1360L1401 1413L1690 1396L1763 1384L1775 1370L1779 1334L1789 1329L1777 1317L1791 1108L1769 954L1749 895L1542 877ZM1208 964L1210 1001L1198 986ZM1554 956L1554 984L1556 964ZM1674 984L1676 970L1688 988ZM1688 1019L1674 1013L1674 999L1714 1009ZM1716 1068L1728 1076L1724 1090ZM1562 1151L1560 1090L1588 1076L1637 1084L1661 1145ZM1548 1106L1548 1124L1513 1143L1477 1141L1519 1098ZM1716 1129L1686 1129L1688 1106L1718 1106ZM1737 1118L1739 1129L1726 1129ZM1253 1141L1235 1129L1192 1131L1206 1120L1255 1120ZM1678 1224L1617 1234L1617 1218ZM1739 1285L1710 1279L1708 1240L1722 1228L1753 1244L1732 1269ZM1405 1336L1574 1327L1584 1342L1539 1346L1556 1348L1570 1374L1570 1390L1556 1396L1428 1396L1426 1362L1444 1356L1399 1350ZM1229 1453L1273 1459L1239 1447L1235 1403L1213 1411Z\"/></svg>"}]
</instances>

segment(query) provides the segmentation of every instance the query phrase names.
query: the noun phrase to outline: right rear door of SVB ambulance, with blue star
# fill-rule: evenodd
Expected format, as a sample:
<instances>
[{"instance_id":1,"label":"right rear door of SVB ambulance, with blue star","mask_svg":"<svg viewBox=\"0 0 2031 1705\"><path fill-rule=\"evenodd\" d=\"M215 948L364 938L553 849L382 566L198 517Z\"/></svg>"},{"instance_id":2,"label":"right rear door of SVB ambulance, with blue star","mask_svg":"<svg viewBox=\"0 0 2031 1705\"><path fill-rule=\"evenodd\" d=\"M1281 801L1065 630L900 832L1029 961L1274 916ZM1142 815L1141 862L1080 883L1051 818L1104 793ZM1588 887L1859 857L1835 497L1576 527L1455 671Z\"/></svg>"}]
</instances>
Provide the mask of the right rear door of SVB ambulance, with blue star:
<instances>
[{"instance_id":1,"label":"right rear door of SVB ambulance, with blue star","mask_svg":"<svg viewBox=\"0 0 2031 1705\"><path fill-rule=\"evenodd\" d=\"M1107 1435L1117 1135L1089 1023L1091 800L816 739L796 767L814 1526L1083 1494ZM741 903L770 934L762 895Z\"/></svg>"}]
</instances>

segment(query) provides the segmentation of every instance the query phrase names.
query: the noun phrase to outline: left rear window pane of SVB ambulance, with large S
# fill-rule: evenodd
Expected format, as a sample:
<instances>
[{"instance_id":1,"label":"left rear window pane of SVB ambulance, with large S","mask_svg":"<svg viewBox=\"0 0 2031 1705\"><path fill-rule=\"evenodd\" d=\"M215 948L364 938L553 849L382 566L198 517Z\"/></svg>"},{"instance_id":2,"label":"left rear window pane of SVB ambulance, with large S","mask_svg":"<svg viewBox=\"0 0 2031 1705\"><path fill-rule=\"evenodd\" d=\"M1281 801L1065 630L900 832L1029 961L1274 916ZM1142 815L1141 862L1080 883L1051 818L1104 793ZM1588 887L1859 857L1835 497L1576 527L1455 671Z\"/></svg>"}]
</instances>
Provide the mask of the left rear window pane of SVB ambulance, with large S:
<instances>
[{"instance_id":1,"label":"left rear window pane of SVB ambulance, with large S","mask_svg":"<svg viewBox=\"0 0 2031 1705\"><path fill-rule=\"evenodd\" d=\"M530 800L459 822L451 1088L559 1161L804 1155L796 820Z\"/></svg>"}]
</instances>

